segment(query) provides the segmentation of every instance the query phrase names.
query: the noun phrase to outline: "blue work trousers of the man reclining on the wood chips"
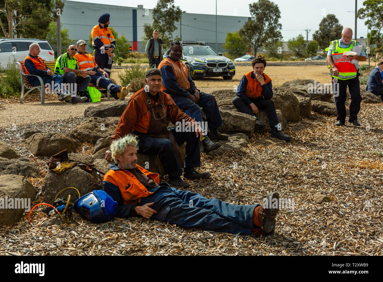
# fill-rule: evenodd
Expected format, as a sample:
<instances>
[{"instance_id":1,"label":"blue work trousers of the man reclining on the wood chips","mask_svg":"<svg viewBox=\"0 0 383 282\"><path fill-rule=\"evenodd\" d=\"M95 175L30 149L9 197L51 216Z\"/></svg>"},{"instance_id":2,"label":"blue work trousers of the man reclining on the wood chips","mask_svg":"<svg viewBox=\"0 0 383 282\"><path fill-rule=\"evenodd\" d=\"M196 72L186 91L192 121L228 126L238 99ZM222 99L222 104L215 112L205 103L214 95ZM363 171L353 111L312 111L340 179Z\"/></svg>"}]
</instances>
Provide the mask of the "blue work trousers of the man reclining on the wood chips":
<instances>
[{"instance_id":1,"label":"blue work trousers of the man reclining on the wood chips","mask_svg":"<svg viewBox=\"0 0 383 282\"><path fill-rule=\"evenodd\" d=\"M251 234L253 212L257 205L234 205L217 199L207 199L191 191L160 186L154 193L141 198L139 205L154 204L157 211L151 219L177 224L187 228L201 228L233 234Z\"/></svg>"}]
</instances>

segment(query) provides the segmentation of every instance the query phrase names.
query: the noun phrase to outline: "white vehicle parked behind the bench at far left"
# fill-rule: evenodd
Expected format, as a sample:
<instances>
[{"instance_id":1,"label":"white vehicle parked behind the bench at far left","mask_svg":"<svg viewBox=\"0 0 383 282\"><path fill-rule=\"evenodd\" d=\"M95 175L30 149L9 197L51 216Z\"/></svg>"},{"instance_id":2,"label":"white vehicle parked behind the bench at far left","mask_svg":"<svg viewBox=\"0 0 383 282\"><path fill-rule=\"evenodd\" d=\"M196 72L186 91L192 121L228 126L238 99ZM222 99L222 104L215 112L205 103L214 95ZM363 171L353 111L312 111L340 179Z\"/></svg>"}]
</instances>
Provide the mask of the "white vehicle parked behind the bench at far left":
<instances>
[{"instance_id":1,"label":"white vehicle parked behind the bench at far left","mask_svg":"<svg viewBox=\"0 0 383 282\"><path fill-rule=\"evenodd\" d=\"M40 46L39 56L44 61L54 61L54 52L46 40L29 38L0 39L0 65L6 67L8 60L24 61L29 54L29 45L37 43Z\"/></svg>"}]
</instances>

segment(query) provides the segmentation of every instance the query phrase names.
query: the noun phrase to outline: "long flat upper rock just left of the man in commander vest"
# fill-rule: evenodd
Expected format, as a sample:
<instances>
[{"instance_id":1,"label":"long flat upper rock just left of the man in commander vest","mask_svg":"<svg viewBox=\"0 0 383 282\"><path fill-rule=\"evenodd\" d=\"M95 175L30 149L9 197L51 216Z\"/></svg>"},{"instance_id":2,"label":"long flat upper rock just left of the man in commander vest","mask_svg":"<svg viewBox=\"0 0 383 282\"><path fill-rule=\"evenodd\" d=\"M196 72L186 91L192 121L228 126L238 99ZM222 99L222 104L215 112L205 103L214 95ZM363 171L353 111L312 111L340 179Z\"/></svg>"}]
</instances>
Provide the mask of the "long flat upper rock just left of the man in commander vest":
<instances>
[{"instance_id":1,"label":"long flat upper rock just left of the man in commander vest","mask_svg":"<svg viewBox=\"0 0 383 282\"><path fill-rule=\"evenodd\" d=\"M296 79L293 81L286 81L282 84L281 88L285 88L286 91L294 92L294 94L301 97L310 97L311 100L330 102L331 97L333 96L331 92L331 81L330 83L322 84L313 79ZM298 91L295 91L294 89Z\"/></svg>"}]
</instances>

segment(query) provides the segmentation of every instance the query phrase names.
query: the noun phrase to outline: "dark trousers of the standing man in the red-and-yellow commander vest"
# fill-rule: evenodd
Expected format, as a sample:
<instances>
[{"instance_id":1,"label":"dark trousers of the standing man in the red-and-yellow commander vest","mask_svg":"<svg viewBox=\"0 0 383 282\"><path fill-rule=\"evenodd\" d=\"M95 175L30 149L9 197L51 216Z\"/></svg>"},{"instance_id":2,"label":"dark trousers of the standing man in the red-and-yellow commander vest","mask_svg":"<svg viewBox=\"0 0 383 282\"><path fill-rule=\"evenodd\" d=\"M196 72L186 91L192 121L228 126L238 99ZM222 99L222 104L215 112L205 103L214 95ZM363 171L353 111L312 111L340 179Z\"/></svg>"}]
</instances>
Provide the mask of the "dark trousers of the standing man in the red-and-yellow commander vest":
<instances>
[{"instance_id":1,"label":"dark trousers of the standing man in the red-and-yellow commander vest","mask_svg":"<svg viewBox=\"0 0 383 282\"><path fill-rule=\"evenodd\" d=\"M331 82L332 90L334 91L336 111L338 113L336 119L342 122L346 119L346 107L344 103L347 99L346 89L348 85L351 96L349 121L352 122L353 120L356 120L360 110L360 102L362 101L362 96L360 96L359 78L356 77L346 80L337 79L337 83L334 83L334 78L332 78Z\"/></svg>"}]
</instances>

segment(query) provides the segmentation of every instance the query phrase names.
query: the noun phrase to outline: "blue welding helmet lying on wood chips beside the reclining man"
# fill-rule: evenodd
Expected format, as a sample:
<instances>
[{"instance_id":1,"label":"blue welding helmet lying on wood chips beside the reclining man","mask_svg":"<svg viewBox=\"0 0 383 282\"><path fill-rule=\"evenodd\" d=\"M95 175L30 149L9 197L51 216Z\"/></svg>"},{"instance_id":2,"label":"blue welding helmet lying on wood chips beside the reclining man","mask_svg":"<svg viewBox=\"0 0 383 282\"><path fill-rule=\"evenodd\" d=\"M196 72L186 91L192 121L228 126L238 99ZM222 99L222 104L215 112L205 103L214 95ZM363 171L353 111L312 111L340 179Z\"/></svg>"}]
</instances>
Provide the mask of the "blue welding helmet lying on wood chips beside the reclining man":
<instances>
[{"instance_id":1,"label":"blue welding helmet lying on wood chips beside the reclining man","mask_svg":"<svg viewBox=\"0 0 383 282\"><path fill-rule=\"evenodd\" d=\"M74 203L75 211L93 223L110 221L117 213L117 206L117 202L102 190L93 190Z\"/></svg>"}]
</instances>

